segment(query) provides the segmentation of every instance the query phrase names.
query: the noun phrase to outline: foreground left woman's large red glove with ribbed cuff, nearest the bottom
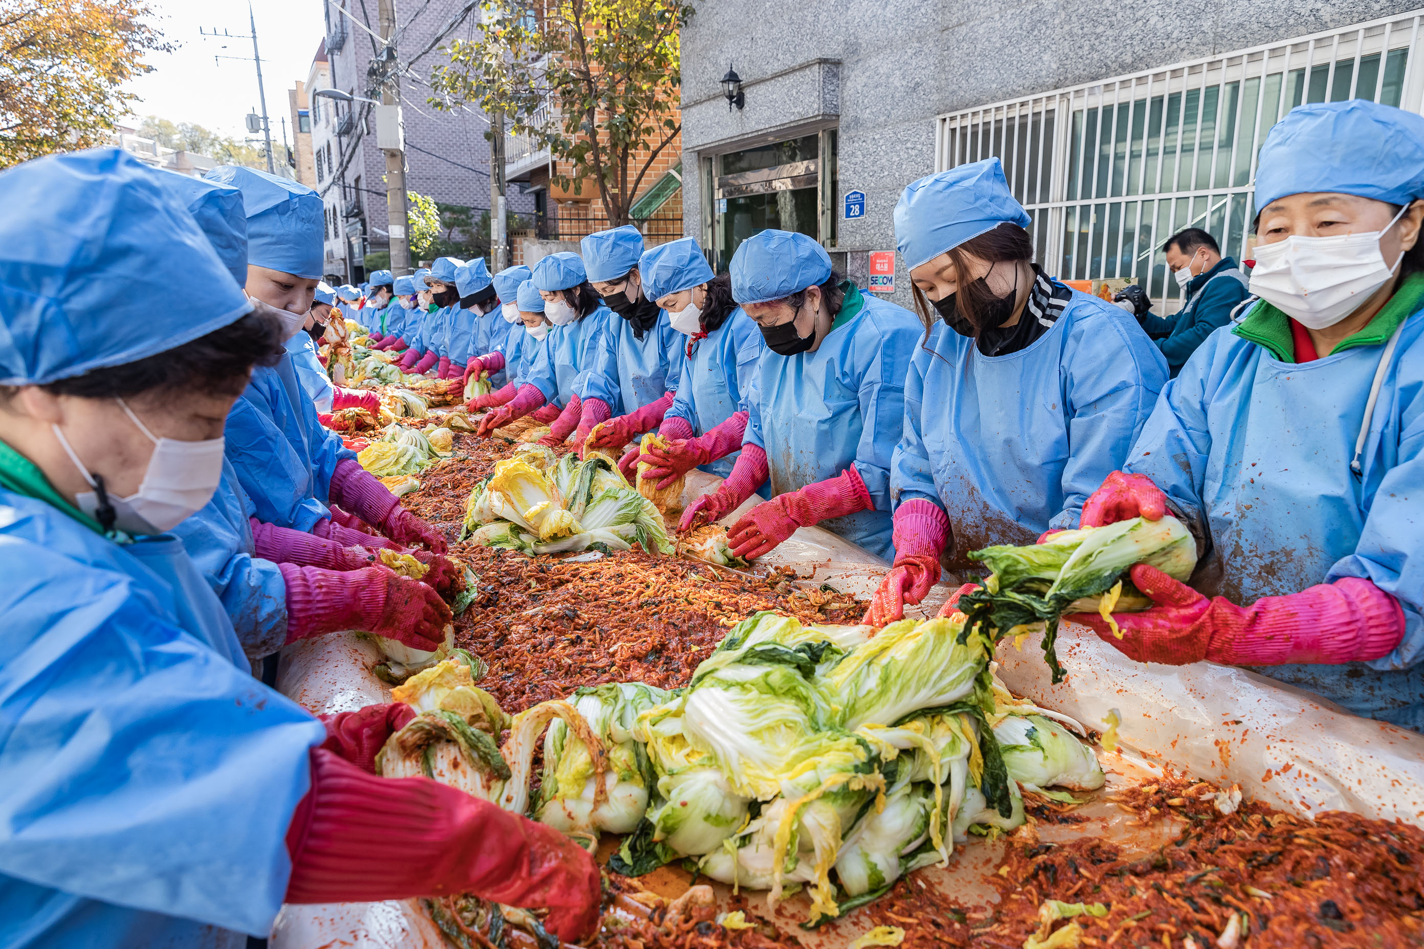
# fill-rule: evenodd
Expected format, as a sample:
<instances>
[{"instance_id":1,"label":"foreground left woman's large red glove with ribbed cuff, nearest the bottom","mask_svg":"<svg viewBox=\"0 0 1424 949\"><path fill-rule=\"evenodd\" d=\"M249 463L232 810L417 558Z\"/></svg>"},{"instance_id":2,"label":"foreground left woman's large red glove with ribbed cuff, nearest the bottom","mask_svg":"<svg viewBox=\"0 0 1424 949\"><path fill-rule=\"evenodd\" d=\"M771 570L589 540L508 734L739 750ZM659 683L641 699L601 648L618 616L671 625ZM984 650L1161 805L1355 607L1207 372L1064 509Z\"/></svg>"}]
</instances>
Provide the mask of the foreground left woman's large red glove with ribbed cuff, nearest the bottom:
<instances>
[{"instance_id":1,"label":"foreground left woman's large red glove with ribbed cuff, nearest the bottom","mask_svg":"<svg viewBox=\"0 0 1424 949\"><path fill-rule=\"evenodd\" d=\"M564 942L598 928L598 864L551 827L430 778L380 778L312 750L312 790L286 831L289 903L376 902L470 892L548 908ZM399 847L372 841L399 839Z\"/></svg>"}]
</instances>

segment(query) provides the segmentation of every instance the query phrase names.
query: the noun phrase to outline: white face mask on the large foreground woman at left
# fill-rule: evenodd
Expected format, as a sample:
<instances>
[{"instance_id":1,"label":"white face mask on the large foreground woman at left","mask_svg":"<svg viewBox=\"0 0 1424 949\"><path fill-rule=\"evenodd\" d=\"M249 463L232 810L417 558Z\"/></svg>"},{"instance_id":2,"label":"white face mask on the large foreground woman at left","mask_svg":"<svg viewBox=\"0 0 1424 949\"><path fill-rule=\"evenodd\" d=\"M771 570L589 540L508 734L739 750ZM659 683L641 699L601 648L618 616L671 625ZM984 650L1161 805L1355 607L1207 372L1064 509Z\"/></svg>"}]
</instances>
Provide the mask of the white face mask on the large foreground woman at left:
<instances>
[{"instance_id":1,"label":"white face mask on the large foreground woman at left","mask_svg":"<svg viewBox=\"0 0 1424 949\"><path fill-rule=\"evenodd\" d=\"M212 495L222 481L224 440L178 441L175 438L155 438L122 398L115 398L114 401L138 425L138 430L144 433L148 441L154 442L154 454L148 460L148 468L144 470L144 479L138 485L138 494L131 494L127 498L117 498L111 494L105 495L105 501L108 501L108 507L114 512L112 526L134 536L171 531L198 511L202 511L212 501ZM97 488L98 484L94 475L88 472L88 468L74 454L74 448L70 447L60 427L50 425L50 428L54 430L54 437L60 440L60 447L64 448L64 454L70 457L70 461L80 470L84 479ZM75 501L80 505L80 511L98 521L103 526L110 526L100 516L103 505L100 504L98 491L84 491L75 497Z\"/></svg>"}]
</instances>

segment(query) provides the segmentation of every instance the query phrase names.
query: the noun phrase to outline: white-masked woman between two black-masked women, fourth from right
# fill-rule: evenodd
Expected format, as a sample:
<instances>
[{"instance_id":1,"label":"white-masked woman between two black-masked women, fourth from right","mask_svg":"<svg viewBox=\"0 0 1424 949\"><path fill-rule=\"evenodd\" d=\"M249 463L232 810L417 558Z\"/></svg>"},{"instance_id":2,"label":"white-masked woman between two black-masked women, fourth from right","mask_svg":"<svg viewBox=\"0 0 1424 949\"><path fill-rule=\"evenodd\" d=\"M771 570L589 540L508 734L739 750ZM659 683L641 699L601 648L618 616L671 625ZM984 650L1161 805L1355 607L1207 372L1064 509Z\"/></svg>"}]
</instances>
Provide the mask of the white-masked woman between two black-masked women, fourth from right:
<instances>
[{"instance_id":1,"label":"white-masked woman between two black-masked women, fourth from right","mask_svg":"<svg viewBox=\"0 0 1424 949\"><path fill-rule=\"evenodd\" d=\"M646 477L659 478L659 487L666 487L701 467L725 478L739 457L748 417L740 405L750 393L766 341L732 299L732 277L713 276L692 238L648 250L638 270L648 296L671 314L672 329L686 337L678 394L658 430L668 445L648 448L641 457L652 465Z\"/></svg>"}]
</instances>

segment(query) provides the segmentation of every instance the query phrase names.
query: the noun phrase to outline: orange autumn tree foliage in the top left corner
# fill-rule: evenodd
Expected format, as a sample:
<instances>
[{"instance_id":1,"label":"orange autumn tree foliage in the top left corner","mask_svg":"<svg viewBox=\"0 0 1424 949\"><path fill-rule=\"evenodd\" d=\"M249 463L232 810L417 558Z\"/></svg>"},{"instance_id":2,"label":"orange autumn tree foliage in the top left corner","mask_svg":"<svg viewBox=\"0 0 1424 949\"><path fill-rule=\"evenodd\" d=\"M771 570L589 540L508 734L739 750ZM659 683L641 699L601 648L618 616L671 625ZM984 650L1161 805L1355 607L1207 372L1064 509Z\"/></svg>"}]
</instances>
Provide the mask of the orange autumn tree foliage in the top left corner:
<instances>
[{"instance_id":1,"label":"orange autumn tree foliage in the top left corner","mask_svg":"<svg viewBox=\"0 0 1424 949\"><path fill-rule=\"evenodd\" d=\"M0 3L0 168L101 145L137 97L144 55L168 51L144 0Z\"/></svg>"}]
</instances>

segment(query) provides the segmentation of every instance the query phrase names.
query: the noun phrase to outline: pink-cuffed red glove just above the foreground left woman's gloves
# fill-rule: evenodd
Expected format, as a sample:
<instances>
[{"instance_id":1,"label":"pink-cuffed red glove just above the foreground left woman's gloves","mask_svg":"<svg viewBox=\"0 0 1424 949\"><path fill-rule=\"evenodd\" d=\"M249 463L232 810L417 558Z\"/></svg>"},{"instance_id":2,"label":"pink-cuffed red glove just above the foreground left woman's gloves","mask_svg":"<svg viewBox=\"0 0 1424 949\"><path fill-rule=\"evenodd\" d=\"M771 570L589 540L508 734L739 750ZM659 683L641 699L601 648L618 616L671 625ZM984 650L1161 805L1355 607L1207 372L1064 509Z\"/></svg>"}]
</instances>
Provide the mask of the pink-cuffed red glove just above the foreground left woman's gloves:
<instances>
[{"instance_id":1,"label":"pink-cuffed red glove just above the foreground left woman's gloves","mask_svg":"<svg viewBox=\"0 0 1424 949\"><path fill-rule=\"evenodd\" d=\"M286 580L286 642L359 629L434 652L451 622L434 589L383 566L323 571L278 563Z\"/></svg>"}]
</instances>

